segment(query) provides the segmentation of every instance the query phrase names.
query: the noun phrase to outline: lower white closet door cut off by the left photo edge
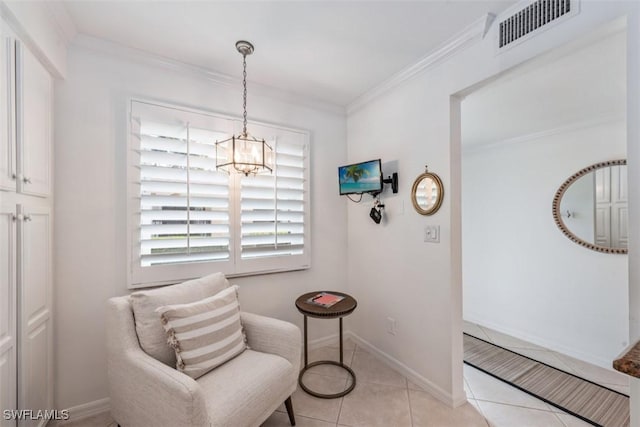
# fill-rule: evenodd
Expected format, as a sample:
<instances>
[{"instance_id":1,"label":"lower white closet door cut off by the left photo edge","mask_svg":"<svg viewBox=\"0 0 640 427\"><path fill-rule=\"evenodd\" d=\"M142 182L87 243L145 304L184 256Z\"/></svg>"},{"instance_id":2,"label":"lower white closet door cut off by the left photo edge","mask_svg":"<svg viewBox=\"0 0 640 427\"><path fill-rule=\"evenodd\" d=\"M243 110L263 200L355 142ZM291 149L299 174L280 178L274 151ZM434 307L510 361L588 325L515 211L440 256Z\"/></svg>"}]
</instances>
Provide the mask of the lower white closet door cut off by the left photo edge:
<instances>
[{"instance_id":1,"label":"lower white closet door cut off by the left photo edge","mask_svg":"<svg viewBox=\"0 0 640 427\"><path fill-rule=\"evenodd\" d=\"M0 205L0 409L18 409L15 205ZM0 418L0 426L15 420Z\"/></svg>"}]
</instances>

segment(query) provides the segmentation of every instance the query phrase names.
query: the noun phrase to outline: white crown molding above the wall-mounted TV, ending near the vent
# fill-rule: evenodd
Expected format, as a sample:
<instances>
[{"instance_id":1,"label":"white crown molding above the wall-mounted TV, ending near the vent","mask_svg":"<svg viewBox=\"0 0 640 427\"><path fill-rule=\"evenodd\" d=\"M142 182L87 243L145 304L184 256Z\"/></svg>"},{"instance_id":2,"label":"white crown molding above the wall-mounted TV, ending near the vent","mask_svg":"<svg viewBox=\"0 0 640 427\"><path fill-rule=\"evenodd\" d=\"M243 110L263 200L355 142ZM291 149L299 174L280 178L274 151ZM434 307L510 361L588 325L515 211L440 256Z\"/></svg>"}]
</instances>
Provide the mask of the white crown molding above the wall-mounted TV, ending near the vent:
<instances>
[{"instance_id":1,"label":"white crown molding above the wall-mounted TV, ending near the vent","mask_svg":"<svg viewBox=\"0 0 640 427\"><path fill-rule=\"evenodd\" d=\"M435 50L431 51L427 56L418 60L415 64L399 71L379 85L360 95L347 106L347 114L352 114L358 111L383 93L388 92L418 74L442 63L445 59L462 50L470 42L477 39L483 39L489 31L494 19L494 14L487 13L482 18L474 21L464 30L441 44Z\"/></svg>"}]
</instances>

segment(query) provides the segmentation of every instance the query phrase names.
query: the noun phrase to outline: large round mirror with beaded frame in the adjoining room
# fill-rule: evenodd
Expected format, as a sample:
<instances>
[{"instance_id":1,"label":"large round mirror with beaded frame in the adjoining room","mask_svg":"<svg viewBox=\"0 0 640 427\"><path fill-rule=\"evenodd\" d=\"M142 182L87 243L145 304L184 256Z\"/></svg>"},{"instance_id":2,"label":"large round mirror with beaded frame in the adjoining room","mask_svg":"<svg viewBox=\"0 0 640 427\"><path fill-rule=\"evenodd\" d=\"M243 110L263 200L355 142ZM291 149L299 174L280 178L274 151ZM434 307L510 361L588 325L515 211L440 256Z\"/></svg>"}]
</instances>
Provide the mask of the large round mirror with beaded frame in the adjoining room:
<instances>
[{"instance_id":1,"label":"large round mirror with beaded frame in the adjoining room","mask_svg":"<svg viewBox=\"0 0 640 427\"><path fill-rule=\"evenodd\" d=\"M553 219L564 235L598 252L627 253L627 214L626 160L576 172L553 198Z\"/></svg>"}]
</instances>

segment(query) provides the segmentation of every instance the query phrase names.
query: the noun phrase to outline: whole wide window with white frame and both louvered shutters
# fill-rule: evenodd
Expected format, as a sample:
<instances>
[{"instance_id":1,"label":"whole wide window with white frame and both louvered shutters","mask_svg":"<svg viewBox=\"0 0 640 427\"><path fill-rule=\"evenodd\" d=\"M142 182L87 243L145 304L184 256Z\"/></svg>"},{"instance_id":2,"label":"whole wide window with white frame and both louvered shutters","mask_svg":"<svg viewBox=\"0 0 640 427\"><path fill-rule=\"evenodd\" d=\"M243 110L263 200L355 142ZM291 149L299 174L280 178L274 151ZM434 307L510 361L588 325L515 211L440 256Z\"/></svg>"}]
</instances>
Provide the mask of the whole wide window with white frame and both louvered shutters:
<instances>
[{"instance_id":1,"label":"whole wide window with white frame and both louvered shutters","mask_svg":"<svg viewBox=\"0 0 640 427\"><path fill-rule=\"evenodd\" d=\"M308 134L249 123L274 148L273 174L216 171L215 142L240 126L230 117L131 102L130 287L309 267Z\"/></svg>"}]
</instances>

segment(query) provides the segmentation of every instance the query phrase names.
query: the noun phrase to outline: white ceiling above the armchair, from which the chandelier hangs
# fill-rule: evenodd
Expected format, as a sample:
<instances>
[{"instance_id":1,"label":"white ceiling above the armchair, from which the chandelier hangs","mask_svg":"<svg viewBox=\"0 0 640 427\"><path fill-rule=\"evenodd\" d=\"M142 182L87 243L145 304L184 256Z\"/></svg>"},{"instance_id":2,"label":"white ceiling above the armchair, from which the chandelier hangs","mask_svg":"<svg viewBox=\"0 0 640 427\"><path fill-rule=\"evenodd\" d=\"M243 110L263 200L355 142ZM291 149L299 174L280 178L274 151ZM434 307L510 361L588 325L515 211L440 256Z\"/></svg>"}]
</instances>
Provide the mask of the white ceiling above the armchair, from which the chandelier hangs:
<instances>
[{"instance_id":1,"label":"white ceiling above the armchair, from which the chandelier hangs","mask_svg":"<svg viewBox=\"0 0 640 427\"><path fill-rule=\"evenodd\" d=\"M64 1L78 33L346 106L514 1Z\"/></svg>"}]
</instances>

